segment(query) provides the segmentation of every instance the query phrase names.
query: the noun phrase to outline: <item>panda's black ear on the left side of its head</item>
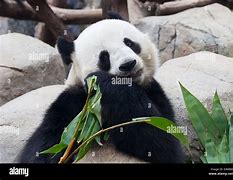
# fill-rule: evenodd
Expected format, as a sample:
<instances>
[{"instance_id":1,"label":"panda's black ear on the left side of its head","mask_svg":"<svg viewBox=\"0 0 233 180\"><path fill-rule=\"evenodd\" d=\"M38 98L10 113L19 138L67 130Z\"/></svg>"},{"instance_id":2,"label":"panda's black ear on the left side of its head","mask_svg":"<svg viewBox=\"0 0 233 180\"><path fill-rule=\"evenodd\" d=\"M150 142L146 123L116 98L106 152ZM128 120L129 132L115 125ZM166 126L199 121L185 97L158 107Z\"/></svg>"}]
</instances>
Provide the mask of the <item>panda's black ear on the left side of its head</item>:
<instances>
[{"instance_id":1,"label":"panda's black ear on the left side of its head","mask_svg":"<svg viewBox=\"0 0 233 180\"><path fill-rule=\"evenodd\" d=\"M74 42L68 41L63 37L58 37L57 49L61 54L63 63L69 65L72 62L71 54L74 52Z\"/></svg>"}]
</instances>

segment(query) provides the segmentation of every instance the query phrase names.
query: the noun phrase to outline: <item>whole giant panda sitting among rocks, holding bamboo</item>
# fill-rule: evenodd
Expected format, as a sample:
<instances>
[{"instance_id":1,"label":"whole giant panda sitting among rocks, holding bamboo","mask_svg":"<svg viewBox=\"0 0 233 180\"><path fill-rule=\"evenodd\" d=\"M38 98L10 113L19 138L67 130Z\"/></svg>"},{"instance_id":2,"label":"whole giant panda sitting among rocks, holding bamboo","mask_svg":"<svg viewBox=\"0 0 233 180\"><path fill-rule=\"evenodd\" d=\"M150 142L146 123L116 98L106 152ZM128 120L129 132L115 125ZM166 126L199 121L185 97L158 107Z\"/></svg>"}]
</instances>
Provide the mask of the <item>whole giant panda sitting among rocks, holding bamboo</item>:
<instances>
[{"instance_id":1,"label":"whole giant panda sitting among rocks, holding bamboo","mask_svg":"<svg viewBox=\"0 0 233 180\"><path fill-rule=\"evenodd\" d=\"M161 116L175 122L174 113L160 84L154 79L159 66L155 45L148 36L120 18L106 19L87 27L74 42L59 38L57 48L65 64L72 63L66 89L47 110L42 124L23 148L19 162L57 163L38 152L59 143L64 128L82 110L86 78L97 76L102 92L103 128L137 117ZM130 78L132 84L112 83ZM152 163L182 163L180 143L172 135L149 124L125 126L109 132L114 148Z\"/></svg>"}]
</instances>

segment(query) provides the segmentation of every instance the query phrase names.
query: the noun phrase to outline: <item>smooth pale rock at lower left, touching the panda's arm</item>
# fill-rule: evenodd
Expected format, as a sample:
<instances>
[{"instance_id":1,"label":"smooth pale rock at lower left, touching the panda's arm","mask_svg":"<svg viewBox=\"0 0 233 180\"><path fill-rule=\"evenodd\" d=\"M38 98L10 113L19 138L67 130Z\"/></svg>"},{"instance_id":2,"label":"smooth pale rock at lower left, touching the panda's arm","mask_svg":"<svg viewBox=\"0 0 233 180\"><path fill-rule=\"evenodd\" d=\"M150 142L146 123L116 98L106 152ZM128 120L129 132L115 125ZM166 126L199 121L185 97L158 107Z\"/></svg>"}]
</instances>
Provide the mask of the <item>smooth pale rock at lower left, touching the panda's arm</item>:
<instances>
[{"instance_id":1,"label":"smooth pale rock at lower left, touching the panda's arm","mask_svg":"<svg viewBox=\"0 0 233 180\"><path fill-rule=\"evenodd\" d=\"M12 163L64 89L53 85L28 92L0 107L0 163Z\"/></svg>"}]
</instances>

